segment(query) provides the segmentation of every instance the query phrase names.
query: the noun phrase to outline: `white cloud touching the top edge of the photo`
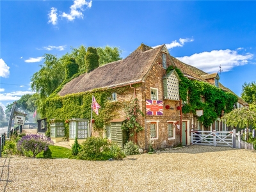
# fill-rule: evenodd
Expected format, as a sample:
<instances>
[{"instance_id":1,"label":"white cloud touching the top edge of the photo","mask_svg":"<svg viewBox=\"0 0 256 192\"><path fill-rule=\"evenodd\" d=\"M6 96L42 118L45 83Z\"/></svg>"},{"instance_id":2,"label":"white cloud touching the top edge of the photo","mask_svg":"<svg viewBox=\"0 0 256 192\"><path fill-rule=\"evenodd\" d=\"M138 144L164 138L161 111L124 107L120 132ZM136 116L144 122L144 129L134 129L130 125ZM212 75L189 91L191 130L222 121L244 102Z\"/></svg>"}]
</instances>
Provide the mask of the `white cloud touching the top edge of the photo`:
<instances>
[{"instance_id":1,"label":"white cloud touching the top edge of the photo","mask_svg":"<svg viewBox=\"0 0 256 192\"><path fill-rule=\"evenodd\" d=\"M92 7L92 1L87 2L85 0L74 0L74 4L70 6L70 13L63 12L61 14L61 17L65 17L68 20L74 20L76 18L82 18L83 19L83 7L87 6L87 8Z\"/></svg>"}]
</instances>

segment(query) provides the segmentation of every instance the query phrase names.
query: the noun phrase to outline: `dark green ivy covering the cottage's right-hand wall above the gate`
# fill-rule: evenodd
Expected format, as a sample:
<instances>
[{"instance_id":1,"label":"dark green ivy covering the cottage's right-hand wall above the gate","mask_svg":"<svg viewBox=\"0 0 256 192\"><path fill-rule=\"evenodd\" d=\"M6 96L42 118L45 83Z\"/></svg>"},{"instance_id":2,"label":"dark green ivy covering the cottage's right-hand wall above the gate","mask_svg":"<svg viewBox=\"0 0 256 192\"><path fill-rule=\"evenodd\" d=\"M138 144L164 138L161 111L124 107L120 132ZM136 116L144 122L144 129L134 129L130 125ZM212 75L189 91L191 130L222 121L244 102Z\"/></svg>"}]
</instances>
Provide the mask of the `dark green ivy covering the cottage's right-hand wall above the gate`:
<instances>
[{"instance_id":1,"label":"dark green ivy covering the cottage's right-hand wall above the gate","mask_svg":"<svg viewBox=\"0 0 256 192\"><path fill-rule=\"evenodd\" d=\"M216 118L221 116L221 111L229 113L232 111L234 103L237 102L237 96L224 92L220 88L204 81L193 81L185 77L179 68L170 66L166 69L166 73L175 69L181 79L179 84L180 99L187 100L188 103L182 107L182 113L193 113L196 115L196 110L204 111L204 115L199 116L198 120L205 127L209 127ZM201 97L204 97L202 102Z\"/></svg>"}]
</instances>

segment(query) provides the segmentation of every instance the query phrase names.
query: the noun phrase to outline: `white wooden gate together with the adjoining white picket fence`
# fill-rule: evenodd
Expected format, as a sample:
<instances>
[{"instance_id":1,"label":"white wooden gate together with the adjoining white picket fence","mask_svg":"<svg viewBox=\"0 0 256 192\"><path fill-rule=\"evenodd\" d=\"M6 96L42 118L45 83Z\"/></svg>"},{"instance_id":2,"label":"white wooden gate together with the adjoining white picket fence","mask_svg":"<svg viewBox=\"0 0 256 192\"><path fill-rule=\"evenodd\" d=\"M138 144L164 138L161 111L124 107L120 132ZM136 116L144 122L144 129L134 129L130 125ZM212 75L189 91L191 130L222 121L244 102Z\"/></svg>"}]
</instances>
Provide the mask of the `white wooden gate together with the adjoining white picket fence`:
<instances>
[{"instance_id":1,"label":"white wooden gate together with the adjoining white picket fence","mask_svg":"<svg viewBox=\"0 0 256 192\"><path fill-rule=\"evenodd\" d=\"M192 129L191 145L211 145L214 147L232 147L253 150L253 144L244 141L246 140L246 133L246 131L236 133L236 129L233 129L233 131L196 131ZM252 136L253 138L256 137L254 129Z\"/></svg>"}]
</instances>

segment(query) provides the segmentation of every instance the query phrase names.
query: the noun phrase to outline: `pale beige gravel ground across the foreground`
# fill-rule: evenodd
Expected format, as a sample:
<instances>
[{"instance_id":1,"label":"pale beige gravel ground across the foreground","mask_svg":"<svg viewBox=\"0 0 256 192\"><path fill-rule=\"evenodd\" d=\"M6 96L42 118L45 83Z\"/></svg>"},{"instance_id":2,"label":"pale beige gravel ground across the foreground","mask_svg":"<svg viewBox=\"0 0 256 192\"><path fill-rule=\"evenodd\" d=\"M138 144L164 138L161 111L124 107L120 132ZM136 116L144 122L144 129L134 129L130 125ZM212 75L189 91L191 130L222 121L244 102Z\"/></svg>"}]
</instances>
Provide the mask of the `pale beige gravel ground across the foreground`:
<instances>
[{"instance_id":1,"label":"pale beige gravel ground across the foreground","mask_svg":"<svg viewBox=\"0 0 256 192\"><path fill-rule=\"evenodd\" d=\"M224 147L168 149L122 161L2 157L0 168L0 191L256 191L256 151Z\"/></svg>"}]
</instances>

